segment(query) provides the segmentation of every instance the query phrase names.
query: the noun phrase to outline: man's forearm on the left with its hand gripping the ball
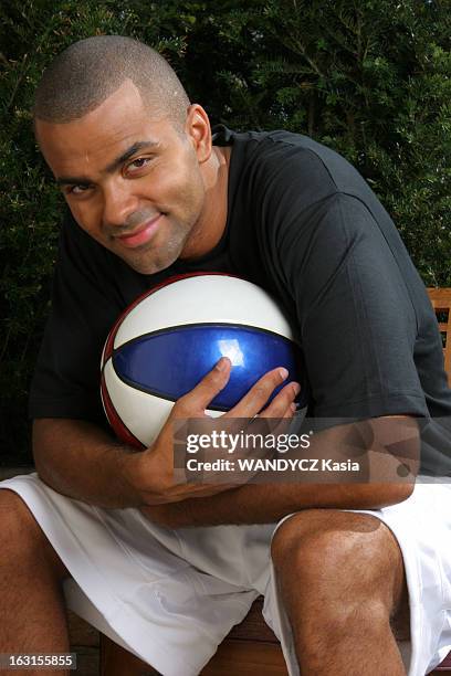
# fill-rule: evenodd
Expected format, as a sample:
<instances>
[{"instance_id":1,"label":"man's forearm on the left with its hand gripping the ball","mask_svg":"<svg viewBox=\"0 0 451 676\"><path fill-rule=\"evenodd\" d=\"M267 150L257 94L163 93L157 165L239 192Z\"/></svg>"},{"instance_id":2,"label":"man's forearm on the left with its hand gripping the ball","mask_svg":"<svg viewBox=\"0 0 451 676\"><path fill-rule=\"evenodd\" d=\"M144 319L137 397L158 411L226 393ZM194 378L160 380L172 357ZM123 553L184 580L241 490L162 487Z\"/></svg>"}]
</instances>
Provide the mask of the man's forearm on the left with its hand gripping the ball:
<instances>
[{"instance_id":1,"label":"man's forearm on the left with its hand gripping the ball","mask_svg":"<svg viewBox=\"0 0 451 676\"><path fill-rule=\"evenodd\" d=\"M223 483L174 483L172 421L203 418L210 401L226 387L230 367L229 359L220 359L191 392L177 401L158 439L141 452L116 442L90 422L34 421L33 454L40 477L63 495L108 508L155 506L227 490L229 486ZM254 416L286 374L286 371L274 369L263 376L226 415ZM291 418L297 391L297 385L286 384L261 415Z\"/></svg>"}]
</instances>

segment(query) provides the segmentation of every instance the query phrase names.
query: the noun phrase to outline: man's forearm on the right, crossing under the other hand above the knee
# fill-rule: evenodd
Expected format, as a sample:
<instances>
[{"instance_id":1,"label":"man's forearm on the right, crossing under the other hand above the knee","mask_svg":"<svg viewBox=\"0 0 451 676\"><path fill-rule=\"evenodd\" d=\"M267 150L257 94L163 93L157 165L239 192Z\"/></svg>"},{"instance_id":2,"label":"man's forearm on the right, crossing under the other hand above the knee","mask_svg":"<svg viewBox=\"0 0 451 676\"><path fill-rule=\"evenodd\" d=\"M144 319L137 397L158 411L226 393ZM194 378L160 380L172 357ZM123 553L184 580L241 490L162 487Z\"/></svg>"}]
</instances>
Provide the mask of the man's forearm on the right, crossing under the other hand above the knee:
<instances>
[{"instance_id":1,"label":"man's forearm on the right, crossing under the other hand above the knee","mask_svg":"<svg viewBox=\"0 0 451 676\"><path fill-rule=\"evenodd\" d=\"M353 447L355 452L355 446L349 446L353 424L318 433L308 457L335 455L343 460ZM401 503L413 490L419 466L420 437L415 418L384 416L358 424L360 430L367 426L371 436L369 448L360 457L366 463L366 483L365 476L363 483L339 483L337 474L336 483L245 484L211 497L145 507L141 511L164 526L183 528L268 524L301 509L378 509Z\"/></svg>"}]
</instances>

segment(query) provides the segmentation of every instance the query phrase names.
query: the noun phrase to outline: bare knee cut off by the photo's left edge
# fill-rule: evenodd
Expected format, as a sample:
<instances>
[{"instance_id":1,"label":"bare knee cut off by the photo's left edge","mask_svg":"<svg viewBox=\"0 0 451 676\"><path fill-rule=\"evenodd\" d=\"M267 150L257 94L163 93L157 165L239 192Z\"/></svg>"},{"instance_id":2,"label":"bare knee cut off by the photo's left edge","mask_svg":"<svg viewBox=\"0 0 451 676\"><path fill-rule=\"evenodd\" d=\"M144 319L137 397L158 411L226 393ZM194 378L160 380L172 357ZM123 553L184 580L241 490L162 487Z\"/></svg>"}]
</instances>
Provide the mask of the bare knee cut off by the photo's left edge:
<instances>
[{"instance_id":1,"label":"bare knee cut off by the photo's left edge","mask_svg":"<svg viewBox=\"0 0 451 676\"><path fill-rule=\"evenodd\" d=\"M7 488L0 489L1 566L23 570L28 567L51 567L63 580L69 571L40 528L22 498Z\"/></svg>"}]
</instances>

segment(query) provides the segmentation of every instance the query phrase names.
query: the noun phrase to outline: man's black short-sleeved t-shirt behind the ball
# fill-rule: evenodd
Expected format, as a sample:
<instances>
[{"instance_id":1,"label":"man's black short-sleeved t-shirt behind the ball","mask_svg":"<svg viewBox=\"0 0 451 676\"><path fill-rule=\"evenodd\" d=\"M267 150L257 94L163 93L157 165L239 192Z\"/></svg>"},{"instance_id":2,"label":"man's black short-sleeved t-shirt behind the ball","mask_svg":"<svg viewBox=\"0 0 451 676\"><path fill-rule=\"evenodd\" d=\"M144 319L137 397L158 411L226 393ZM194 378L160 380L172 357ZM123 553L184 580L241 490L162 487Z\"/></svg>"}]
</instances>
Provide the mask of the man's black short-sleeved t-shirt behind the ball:
<instances>
[{"instance_id":1,"label":"man's black short-sleeved t-shirt behind the ball","mask_svg":"<svg viewBox=\"0 0 451 676\"><path fill-rule=\"evenodd\" d=\"M67 214L31 418L104 424L99 362L117 316L164 278L216 271L262 286L291 317L310 415L450 420L436 316L392 221L359 173L333 150L286 131L235 134L220 126L214 142L232 146L227 226L196 261L141 275ZM440 472L448 474L444 442L437 441L442 432L427 426L423 465L432 462L430 446L440 445Z\"/></svg>"}]
</instances>

